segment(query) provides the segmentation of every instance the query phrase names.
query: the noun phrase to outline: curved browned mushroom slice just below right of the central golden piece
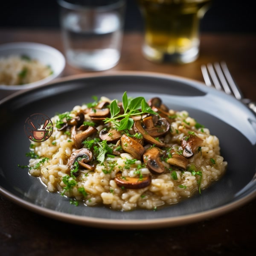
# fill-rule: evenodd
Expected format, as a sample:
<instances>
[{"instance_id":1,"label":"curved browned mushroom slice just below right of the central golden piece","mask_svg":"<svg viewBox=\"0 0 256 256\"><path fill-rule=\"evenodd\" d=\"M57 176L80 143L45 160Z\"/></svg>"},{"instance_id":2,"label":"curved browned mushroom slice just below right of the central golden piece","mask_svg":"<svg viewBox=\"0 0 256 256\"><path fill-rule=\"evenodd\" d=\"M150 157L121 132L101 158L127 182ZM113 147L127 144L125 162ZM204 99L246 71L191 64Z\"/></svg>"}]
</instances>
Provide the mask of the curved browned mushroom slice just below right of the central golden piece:
<instances>
[{"instance_id":1,"label":"curved browned mushroom slice just below right of the central golden piece","mask_svg":"<svg viewBox=\"0 0 256 256\"><path fill-rule=\"evenodd\" d=\"M163 156L166 151L157 148L151 147L148 148L143 154L143 162L146 164L146 167L152 173L160 174L165 171L165 166L162 163L161 156Z\"/></svg>"}]
</instances>

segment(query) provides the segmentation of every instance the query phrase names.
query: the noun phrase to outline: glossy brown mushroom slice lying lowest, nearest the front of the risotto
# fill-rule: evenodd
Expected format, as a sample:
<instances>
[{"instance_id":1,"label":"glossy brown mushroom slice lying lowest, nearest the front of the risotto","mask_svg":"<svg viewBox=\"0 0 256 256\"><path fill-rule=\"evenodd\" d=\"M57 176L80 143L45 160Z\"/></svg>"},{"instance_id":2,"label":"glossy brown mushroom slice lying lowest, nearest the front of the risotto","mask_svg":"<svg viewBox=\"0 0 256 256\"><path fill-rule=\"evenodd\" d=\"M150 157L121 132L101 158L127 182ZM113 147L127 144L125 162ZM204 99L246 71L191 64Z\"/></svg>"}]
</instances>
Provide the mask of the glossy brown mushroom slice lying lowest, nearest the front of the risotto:
<instances>
[{"instance_id":1,"label":"glossy brown mushroom slice lying lowest, nearest the front of the risotto","mask_svg":"<svg viewBox=\"0 0 256 256\"><path fill-rule=\"evenodd\" d=\"M148 175L142 178L122 177L122 173L118 172L115 177L115 182L117 186L126 189L143 189L150 185L151 176Z\"/></svg>"}]
</instances>

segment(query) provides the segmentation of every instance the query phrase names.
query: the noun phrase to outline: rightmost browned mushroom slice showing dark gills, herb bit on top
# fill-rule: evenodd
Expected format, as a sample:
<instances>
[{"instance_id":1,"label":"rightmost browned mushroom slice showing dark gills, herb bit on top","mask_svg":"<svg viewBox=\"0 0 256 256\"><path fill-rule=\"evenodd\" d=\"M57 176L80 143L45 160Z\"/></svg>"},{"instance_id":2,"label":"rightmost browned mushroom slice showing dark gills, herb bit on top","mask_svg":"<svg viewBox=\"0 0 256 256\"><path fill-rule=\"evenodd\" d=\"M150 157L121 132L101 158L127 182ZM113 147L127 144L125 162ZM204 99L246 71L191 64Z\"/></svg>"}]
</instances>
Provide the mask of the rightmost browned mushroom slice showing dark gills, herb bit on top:
<instances>
[{"instance_id":1,"label":"rightmost browned mushroom slice showing dark gills, herb bit on top","mask_svg":"<svg viewBox=\"0 0 256 256\"><path fill-rule=\"evenodd\" d=\"M180 143L183 148L183 156L192 157L197 148L203 143L203 140L197 137L195 134L188 134L183 137Z\"/></svg>"}]
</instances>

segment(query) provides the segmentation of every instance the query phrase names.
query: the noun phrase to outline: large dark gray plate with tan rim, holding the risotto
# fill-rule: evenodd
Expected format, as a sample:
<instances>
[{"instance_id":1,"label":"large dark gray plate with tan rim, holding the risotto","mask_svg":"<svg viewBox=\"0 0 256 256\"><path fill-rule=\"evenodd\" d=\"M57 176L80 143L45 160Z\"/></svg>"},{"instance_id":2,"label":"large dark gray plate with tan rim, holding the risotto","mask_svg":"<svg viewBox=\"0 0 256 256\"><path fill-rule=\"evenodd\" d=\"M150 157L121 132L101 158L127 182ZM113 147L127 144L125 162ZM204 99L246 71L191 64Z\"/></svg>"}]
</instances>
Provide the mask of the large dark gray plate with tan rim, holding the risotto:
<instances>
[{"instance_id":1,"label":"large dark gray plate with tan rim, holding the risotto","mask_svg":"<svg viewBox=\"0 0 256 256\"><path fill-rule=\"evenodd\" d=\"M227 173L201 195L157 211L113 211L105 207L70 205L67 198L49 193L28 175L25 153L29 140L23 130L33 113L49 117L92 102L92 96L122 99L160 97L175 110L189 115L210 129L220 140ZM168 227L214 217L247 203L256 196L256 117L241 102L198 81L157 73L122 72L113 75L78 76L17 93L0 102L0 192L22 207L51 218L104 228Z\"/></svg>"}]
</instances>

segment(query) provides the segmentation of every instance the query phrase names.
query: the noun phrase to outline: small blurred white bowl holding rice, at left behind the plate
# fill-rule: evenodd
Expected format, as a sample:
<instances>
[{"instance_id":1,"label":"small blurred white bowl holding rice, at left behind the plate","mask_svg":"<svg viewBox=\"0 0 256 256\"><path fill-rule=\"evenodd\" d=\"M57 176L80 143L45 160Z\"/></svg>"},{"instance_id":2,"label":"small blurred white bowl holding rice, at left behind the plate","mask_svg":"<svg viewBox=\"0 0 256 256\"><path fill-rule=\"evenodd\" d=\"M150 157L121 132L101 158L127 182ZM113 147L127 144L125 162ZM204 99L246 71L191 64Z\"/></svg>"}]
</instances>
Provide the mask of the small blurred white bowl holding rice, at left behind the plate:
<instances>
[{"instance_id":1,"label":"small blurred white bowl holding rice, at left behind the plate","mask_svg":"<svg viewBox=\"0 0 256 256\"><path fill-rule=\"evenodd\" d=\"M31 59L37 59L44 65L49 65L53 71L52 75L45 79L22 85L1 85L0 84L0 99L18 91L27 90L46 84L49 81L61 76L66 65L66 60L63 54L57 49L45 44L19 42L0 44L0 58L9 57L10 55L28 55Z\"/></svg>"}]
</instances>

